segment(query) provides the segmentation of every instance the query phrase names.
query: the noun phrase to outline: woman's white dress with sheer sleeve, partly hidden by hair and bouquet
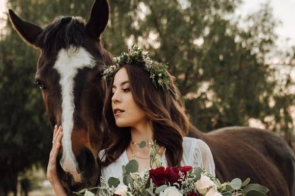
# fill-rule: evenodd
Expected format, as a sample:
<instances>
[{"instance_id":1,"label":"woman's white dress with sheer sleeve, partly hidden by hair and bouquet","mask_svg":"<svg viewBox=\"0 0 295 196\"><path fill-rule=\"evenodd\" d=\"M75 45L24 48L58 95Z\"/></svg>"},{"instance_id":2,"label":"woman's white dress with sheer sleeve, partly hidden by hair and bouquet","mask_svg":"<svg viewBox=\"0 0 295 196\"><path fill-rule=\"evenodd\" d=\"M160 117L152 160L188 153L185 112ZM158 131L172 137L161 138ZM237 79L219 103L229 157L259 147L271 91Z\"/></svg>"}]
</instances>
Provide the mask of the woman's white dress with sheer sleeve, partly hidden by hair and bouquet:
<instances>
[{"instance_id":1,"label":"woman's white dress with sheer sleeve, partly hidden by hair and bouquet","mask_svg":"<svg viewBox=\"0 0 295 196\"><path fill-rule=\"evenodd\" d=\"M99 158L104 160L105 149L99 152ZM110 177L119 178L122 176L122 166L128 163L128 157L126 150L121 156L106 167L101 168L101 176L106 179ZM162 165L167 167L167 160L165 151L162 156ZM181 166L192 166L204 168L209 174L215 176L215 164L213 156L209 146L200 139L184 137L183 138L183 158L181 160ZM122 179L120 184L123 185Z\"/></svg>"}]
</instances>

